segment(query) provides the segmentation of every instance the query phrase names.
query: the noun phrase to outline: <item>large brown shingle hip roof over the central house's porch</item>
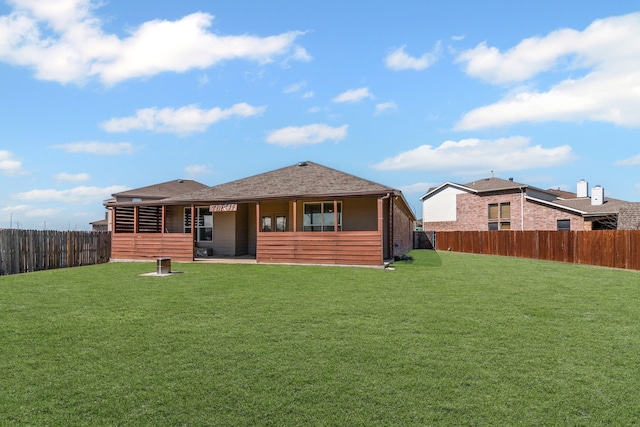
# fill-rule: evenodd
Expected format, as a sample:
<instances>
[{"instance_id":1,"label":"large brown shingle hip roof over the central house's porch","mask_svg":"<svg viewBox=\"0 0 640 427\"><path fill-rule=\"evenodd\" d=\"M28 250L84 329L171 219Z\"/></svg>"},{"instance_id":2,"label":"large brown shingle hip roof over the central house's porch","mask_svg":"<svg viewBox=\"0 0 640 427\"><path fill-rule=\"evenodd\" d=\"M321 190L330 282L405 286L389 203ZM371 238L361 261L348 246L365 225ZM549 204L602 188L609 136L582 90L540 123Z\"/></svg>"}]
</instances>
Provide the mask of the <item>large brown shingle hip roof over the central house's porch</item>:
<instances>
[{"instance_id":1,"label":"large brown shingle hip roof over the central house's porch","mask_svg":"<svg viewBox=\"0 0 640 427\"><path fill-rule=\"evenodd\" d=\"M401 194L399 190L313 162L265 172L203 190L176 195L163 202L242 202L294 197L337 197Z\"/></svg>"}]
</instances>

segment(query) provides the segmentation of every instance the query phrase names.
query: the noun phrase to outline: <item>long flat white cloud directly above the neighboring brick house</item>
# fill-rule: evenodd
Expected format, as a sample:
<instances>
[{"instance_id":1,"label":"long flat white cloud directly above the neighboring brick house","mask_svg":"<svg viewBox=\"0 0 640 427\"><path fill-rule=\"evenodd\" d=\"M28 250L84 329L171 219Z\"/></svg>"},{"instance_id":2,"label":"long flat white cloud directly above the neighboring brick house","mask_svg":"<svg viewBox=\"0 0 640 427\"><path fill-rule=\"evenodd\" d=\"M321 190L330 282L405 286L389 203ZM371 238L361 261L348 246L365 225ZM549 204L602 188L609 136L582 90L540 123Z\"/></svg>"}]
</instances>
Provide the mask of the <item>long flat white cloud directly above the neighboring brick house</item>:
<instances>
[{"instance_id":1,"label":"long flat white cloud directly above the neighboring brick house","mask_svg":"<svg viewBox=\"0 0 640 427\"><path fill-rule=\"evenodd\" d=\"M571 147L543 148L531 145L522 136L496 140L463 139L445 141L439 147L422 145L389 157L374 165L380 170L446 171L449 173L489 173L558 166L573 159Z\"/></svg>"}]
</instances>

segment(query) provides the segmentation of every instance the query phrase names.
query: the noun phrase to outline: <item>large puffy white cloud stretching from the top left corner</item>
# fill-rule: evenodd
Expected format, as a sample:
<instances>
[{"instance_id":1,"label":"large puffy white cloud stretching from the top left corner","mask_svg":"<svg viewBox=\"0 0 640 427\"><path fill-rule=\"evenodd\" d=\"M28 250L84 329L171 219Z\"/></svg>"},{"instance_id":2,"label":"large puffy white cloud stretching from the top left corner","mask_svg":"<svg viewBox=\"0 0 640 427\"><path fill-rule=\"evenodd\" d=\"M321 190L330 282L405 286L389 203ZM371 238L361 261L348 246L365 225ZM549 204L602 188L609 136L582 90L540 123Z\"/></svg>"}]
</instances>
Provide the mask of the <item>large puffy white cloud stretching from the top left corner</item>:
<instances>
[{"instance_id":1,"label":"large puffy white cloud stretching from the top left corner","mask_svg":"<svg viewBox=\"0 0 640 427\"><path fill-rule=\"evenodd\" d=\"M0 61L33 68L38 79L81 83L97 77L105 84L158 73L204 69L222 61L260 64L277 57L309 61L295 44L303 33L222 36L211 32L213 16L196 12L176 21L153 20L120 38L106 34L91 0L13 0L0 16Z\"/></svg>"}]
</instances>

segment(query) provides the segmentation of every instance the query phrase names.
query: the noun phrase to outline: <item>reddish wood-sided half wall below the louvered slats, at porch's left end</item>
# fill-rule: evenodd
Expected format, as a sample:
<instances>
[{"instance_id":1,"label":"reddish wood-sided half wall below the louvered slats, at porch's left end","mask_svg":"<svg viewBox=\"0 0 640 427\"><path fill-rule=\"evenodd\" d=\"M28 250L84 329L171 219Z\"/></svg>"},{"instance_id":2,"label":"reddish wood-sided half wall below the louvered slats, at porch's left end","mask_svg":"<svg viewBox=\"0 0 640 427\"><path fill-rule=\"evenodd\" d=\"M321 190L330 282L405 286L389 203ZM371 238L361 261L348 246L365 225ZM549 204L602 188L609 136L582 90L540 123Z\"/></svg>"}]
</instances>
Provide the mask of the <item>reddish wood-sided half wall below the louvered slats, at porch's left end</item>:
<instances>
[{"instance_id":1,"label":"reddish wood-sided half wall below the louvered slats, at porch's left end","mask_svg":"<svg viewBox=\"0 0 640 427\"><path fill-rule=\"evenodd\" d=\"M112 259L151 260L158 257L193 261L193 236L185 233L114 233L111 238Z\"/></svg>"}]
</instances>

